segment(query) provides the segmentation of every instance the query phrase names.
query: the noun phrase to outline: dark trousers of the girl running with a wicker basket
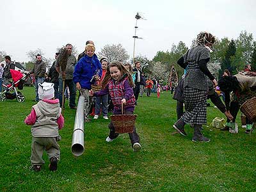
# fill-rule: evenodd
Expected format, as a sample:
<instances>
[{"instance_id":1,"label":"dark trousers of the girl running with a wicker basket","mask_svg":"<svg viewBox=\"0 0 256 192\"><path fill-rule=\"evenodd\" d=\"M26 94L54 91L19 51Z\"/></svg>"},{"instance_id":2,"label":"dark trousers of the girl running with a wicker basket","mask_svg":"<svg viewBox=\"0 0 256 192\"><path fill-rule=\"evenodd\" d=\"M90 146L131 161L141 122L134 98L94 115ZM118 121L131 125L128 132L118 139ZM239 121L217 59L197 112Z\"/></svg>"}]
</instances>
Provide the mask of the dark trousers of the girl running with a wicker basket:
<instances>
[{"instance_id":1,"label":"dark trousers of the girl running with a wicker basket","mask_svg":"<svg viewBox=\"0 0 256 192\"><path fill-rule=\"evenodd\" d=\"M131 111L125 111L125 114L132 115L133 113ZM114 115L118 115L118 114L114 114ZM119 134L115 132L115 127L112 122L109 123L108 128L110 130L109 138L111 140L117 138ZM133 132L129 132L128 134L129 134L129 138L131 140L132 146L134 143L140 143L140 136L137 134L135 126L133 127Z\"/></svg>"}]
</instances>

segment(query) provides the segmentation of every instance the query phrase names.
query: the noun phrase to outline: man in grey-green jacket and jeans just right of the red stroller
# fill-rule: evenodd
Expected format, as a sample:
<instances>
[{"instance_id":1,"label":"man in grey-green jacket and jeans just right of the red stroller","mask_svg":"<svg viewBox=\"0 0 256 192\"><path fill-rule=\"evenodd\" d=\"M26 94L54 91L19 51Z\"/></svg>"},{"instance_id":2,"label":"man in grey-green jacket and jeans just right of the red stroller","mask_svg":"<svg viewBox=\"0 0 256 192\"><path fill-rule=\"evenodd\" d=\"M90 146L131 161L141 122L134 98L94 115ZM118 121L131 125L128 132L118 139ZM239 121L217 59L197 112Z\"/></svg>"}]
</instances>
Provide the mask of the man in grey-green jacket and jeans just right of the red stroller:
<instances>
[{"instance_id":1,"label":"man in grey-green jacket and jeans just right of the red stroller","mask_svg":"<svg viewBox=\"0 0 256 192\"><path fill-rule=\"evenodd\" d=\"M36 63L29 74L34 74L35 76L35 92L36 92L36 99L35 101L38 102L38 84L44 83L44 77L46 72L46 65L44 61L42 61L42 56L40 54L36 55Z\"/></svg>"}]
</instances>

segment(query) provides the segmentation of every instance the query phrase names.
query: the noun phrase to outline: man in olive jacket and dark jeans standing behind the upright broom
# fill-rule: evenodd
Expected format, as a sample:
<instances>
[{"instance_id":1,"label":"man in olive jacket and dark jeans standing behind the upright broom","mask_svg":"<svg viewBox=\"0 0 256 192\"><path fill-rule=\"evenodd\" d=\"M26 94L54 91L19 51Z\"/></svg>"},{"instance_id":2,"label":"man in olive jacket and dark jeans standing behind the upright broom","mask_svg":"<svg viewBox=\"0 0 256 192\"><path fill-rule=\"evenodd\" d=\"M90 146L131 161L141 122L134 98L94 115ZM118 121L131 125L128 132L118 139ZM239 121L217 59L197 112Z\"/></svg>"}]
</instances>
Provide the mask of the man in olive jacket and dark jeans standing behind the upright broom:
<instances>
[{"instance_id":1,"label":"man in olive jacket and dark jeans standing behind the upright broom","mask_svg":"<svg viewBox=\"0 0 256 192\"><path fill-rule=\"evenodd\" d=\"M76 109L76 84L73 81L73 72L74 67L76 65L76 57L72 54L73 46L71 44L67 44L66 46L67 52L68 52L68 60L67 60L67 67L65 69L65 72L63 72L63 75L65 76L65 84L64 88L68 86L69 92L70 92L70 99L69 99L69 107L70 109ZM65 92L63 90L63 81L62 81L62 70L60 67L60 57L56 59L55 67L57 72L59 73L59 99L60 99L60 105L62 104L62 92Z\"/></svg>"}]
</instances>

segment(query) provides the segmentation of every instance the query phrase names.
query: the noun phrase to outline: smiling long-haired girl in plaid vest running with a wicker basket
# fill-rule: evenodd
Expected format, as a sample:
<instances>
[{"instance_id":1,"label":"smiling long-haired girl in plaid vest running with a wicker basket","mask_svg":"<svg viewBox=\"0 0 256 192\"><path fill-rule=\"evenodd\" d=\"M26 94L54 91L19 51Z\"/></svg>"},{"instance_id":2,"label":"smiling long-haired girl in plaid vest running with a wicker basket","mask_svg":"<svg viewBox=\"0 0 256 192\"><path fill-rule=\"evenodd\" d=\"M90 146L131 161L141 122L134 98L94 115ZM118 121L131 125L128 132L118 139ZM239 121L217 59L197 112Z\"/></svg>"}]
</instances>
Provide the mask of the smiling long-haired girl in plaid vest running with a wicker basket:
<instances>
[{"instance_id":1,"label":"smiling long-haired girl in plaid vest running with a wicker basket","mask_svg":"<svg viewBox=\"0 0 256 192\"><path fill-rule=\"evenodd\" d=\"M132 115L135 106L135 97L132 91L133 86L134 83L131 74L122 63L115 61L109 64L106 76L102 81L102 90L95 93L93 93L93 90L90 90L90 95L99 97L109 94L114 105L113 115L122 114L122 104L124 104L125 115ZM126 122L126 124L129 124L129 122ZM106 141L111 142L118 137L118 133L113 125L113 120L108 127L110 132ZM133 131L129 132L129 138L134 152L140 151L140 136L137 134L135 126L133 126Z\"/></svg>"}]
</instances>

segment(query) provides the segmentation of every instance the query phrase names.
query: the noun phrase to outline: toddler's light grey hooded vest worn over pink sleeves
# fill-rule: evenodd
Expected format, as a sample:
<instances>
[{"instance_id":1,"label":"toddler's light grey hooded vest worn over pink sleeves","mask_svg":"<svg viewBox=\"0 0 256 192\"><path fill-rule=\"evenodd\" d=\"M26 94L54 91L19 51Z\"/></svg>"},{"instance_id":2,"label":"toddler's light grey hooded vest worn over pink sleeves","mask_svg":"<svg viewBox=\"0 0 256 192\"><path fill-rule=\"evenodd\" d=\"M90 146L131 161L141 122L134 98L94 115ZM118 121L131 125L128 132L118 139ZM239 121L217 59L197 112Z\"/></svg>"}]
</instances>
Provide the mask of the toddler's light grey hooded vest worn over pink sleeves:
<instances>
[{"instance_id":1,"label":"toddler's light grey hooded vest worn over pink sleeves","mask_svg":"<svg viewBox=\"0 0 256 192\"><path fill-rule=\"evenodd\" d=\"M60 103L50 104L40 100L33 106L36 122L31 126L33 137L52 138L59 135L57 120L61 115Z\"/></svg>"}]
</instances>

